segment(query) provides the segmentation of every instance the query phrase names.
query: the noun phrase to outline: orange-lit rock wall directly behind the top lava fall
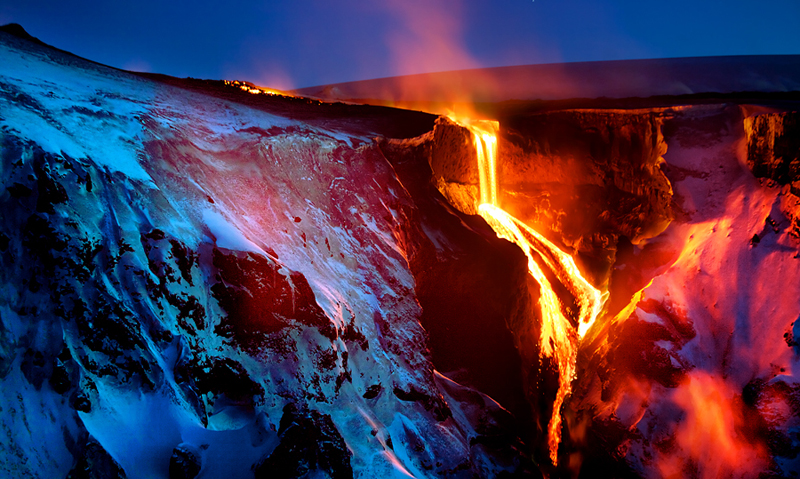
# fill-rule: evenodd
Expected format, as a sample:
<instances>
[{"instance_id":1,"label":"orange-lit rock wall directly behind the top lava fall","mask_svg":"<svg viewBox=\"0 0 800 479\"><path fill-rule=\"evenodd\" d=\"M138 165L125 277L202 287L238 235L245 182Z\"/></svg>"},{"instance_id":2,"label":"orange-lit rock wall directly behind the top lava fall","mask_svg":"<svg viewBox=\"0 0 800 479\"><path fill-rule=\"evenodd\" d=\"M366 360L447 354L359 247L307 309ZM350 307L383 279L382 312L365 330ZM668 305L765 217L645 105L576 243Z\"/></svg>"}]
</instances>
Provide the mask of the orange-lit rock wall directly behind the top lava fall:
<instances>
[{"instance_id":1,"label":"orange-lit rock wall directly behind the top lava fall","mask_svg":"<svg viewBox=\"0 0 800 479\"><path fill-rule=\"evenodd\" d=\"M668 112L566 110L500 119L498 199L584 260L604 283L616 243L639 242L672 218L661 171ZM434 129L434 178L456 208L475 213L478 171L469 132L447 119Z\"/></svg>"}]
</instances>

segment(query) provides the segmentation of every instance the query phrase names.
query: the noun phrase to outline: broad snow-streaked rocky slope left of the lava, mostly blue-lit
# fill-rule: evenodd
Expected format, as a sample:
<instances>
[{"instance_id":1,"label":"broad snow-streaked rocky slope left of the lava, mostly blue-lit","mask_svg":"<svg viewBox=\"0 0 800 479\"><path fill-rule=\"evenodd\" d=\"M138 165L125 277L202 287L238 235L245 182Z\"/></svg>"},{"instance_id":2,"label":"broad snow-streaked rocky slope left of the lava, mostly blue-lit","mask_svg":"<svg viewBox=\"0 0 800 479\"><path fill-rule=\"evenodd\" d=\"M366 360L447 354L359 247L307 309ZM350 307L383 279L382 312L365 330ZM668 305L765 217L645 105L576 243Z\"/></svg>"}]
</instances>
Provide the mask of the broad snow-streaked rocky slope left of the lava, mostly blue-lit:
<instances>
[{"instance_id":1,"label":"broad snow-streaked rocky slope left of the lava, mostly blue-lit","mask_svg":"<svg viewBox=\"0 0 800 479\"><path fill-rule=\"evenodd\" d=\"M385 119L289 119L4 33L0 65L3 471L536 472L508 412L434 370L412 265L469 228L423 224Z\"/></svg>"}]
</instances>

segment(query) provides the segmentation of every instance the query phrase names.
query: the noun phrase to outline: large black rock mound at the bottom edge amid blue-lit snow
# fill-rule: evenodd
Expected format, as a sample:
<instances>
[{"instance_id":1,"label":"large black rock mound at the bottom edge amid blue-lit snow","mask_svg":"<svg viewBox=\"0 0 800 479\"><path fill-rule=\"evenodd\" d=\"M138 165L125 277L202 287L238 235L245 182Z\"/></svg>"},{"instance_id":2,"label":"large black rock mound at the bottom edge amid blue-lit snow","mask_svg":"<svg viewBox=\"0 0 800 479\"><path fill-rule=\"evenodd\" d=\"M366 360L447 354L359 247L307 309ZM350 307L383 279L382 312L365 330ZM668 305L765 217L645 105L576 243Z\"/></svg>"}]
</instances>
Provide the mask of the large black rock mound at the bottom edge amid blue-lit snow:
<instances>
[{"instance_id":1,"label":"large black rock mound at the bottom edge amid blue-lit snow","mask_svg":"<svg viewBox=\"0 0 800 479\"><path fill-rule=\"evenodd\" d=\"M280 443L256 466L256 479L293 479L313 471L337 479L353 477L350 450L327 414L288 404L278 434Z\"/></svg>"}]
</instances>

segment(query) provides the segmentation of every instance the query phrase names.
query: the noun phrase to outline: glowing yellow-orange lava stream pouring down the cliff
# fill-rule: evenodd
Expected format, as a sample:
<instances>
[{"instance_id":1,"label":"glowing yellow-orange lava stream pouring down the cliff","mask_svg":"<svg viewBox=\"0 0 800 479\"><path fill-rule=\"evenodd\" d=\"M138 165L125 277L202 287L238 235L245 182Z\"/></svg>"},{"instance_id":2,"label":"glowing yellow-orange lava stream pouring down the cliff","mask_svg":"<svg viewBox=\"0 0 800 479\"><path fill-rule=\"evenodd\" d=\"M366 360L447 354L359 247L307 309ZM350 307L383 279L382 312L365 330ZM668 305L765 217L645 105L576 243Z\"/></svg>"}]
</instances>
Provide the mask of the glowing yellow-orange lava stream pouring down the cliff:
<instances>
[{"instance_id":1,"label":"glowing yellow-orange lava stream pouring down the cliff","mask_svg":"<svg viewBox=\"0 0 800 479\"><path fill-rule=\"evenodd\" d=\"M497 202L497 130L496 121L471 122L466 127L472 132L478 155L481 204L478 212L494 229L497 236L517 244L528 257L528 271L539 283L539 307L542 311L542 332L539 346L543 357L553 358L558 365L558 391L553 404L553 415L548 425L550 460L558 460L561 442L561 406L572 390L578 345L594 324L603 308L604 296L581 276L572 256L534 231L517 218L506 213ZM534 254L555 273L558 280L575 296L578 306L577 328L564 314L561 301L553 290Z\"/></svg>"}]
</instances>

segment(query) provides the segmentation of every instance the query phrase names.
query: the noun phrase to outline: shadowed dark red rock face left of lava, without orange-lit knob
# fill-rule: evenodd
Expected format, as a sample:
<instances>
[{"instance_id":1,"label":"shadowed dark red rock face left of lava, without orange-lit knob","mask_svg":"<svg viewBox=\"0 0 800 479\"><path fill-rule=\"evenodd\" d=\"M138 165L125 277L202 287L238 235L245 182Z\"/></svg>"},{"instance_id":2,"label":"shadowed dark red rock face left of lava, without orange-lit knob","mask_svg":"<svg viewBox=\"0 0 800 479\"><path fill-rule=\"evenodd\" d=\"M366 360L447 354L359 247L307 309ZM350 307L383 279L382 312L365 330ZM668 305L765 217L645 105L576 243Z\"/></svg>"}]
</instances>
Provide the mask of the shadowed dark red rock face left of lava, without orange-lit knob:
<instances>
[{"instance_id":1,"label":"shadowed dark red rock face left of lava, without orange-lit knob","mask_svg":"<svg viewBox=\"0 0 800 479\"><path fill-rule=\"evenodd\" d=\"M528 290L522 252L498 239L479 217L453 208L453 198L440 193L446 167L439 157L449 156L454 169L469 170L474 162L461 161L467 138L463 128L442 128L451 124L446 118L436 124L423 137L380 144L419 208L421 229L446 232L420 235L425 241L409 262L421 322L437 369L489 394L515 414L520 432L529 435L533 428L523 371L538 368L538 360L521 353L525 348L516 332L537 323L530 305L538 292ZM450 143L445 132L459 143Z\"/></svg>"}]
</instances>

